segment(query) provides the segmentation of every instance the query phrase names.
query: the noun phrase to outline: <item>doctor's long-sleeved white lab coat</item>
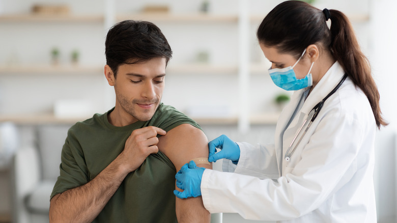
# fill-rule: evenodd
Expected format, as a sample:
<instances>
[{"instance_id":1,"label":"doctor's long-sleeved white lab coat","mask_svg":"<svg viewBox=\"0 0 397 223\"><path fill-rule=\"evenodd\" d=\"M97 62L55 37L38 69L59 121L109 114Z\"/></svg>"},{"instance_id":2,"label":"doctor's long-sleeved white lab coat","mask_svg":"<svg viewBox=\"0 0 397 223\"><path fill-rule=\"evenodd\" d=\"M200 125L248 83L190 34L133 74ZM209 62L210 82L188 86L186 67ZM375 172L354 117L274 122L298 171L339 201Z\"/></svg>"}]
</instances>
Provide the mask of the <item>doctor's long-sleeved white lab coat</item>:
<instances>
[{"instance_id":1,"label":"doctor's long-sleeved white lab coat","mask_svg":"<svg viewBox=\"0 0 397 223\"><path fill-rule=\"evenodd\" d=\"M306 100L305 89L294 92L277 122L275 145L238 143L238 165L224 160L226 171L234 173L205 170L205 208L279 222L376 222L376 123L366 96L349 77L326 100L290 162L283 160L309 111L344 73L336 62Z\"/></svg>"}]
</instances>

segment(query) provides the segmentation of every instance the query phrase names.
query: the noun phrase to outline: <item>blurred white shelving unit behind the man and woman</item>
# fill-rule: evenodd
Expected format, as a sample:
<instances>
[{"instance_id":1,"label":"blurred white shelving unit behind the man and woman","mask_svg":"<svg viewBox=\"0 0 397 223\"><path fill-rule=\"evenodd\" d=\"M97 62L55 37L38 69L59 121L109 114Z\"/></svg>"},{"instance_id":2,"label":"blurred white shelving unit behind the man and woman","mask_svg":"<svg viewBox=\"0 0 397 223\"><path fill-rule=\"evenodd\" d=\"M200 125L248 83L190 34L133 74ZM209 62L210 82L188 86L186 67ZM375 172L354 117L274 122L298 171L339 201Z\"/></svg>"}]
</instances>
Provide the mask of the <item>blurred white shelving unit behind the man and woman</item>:
<instances>
[{"instance_id":1,"label":"blurred white shelving unit behind the man and woman","mask_svg":"<svg viewBox=\"0 0 397 223\"><path fill-rule=\"evenodd\" d=\"M237 41L234 45L230 46L233 48L238 48L238 53L235 55L237 58L237 63L175 63L170 64L167 68L167 73L170 76L174 76L176 79L191 78L200 74L211 74L218 76L218 78L234 79L234 85L228 88L234 88L237 92L237 97L233 99L234 103L238 104L237 112L234 115L226 117L213 117L213 118L200 118L192 117L198 122L203 124L233 124L237 125L240 132L246 132L249 130L251 124L275 124L278 113L277 111L271 110L266 111L260 115L253 114L250 111L251 107L251 96L250 96L250 81L256 81L256 79L251 80L251 77L258 76L257 74L264 75L267 72L267 65L263 61L253 61L252 60L252 26L253 24L258 24L264 15L255 15L249 13L249 2L245 0L237 1L237 11L232 14L217 14L216 12L209 13L119 13L116 10L117 0L105 0L104 1L104 12L97 14L85 15L80 14L70 14L70 15L34 15L28 13L20 14L0 14L0 25L1 24L11 24L15 29L18 29L18 25L35 25L35 26L72 26L72 25L87 25L87 26L102 26L103 34L106 34L108 28L115 22L122 21L125 19L138 19L138 20L148 20L154 23L166 24L168 26L178 26L185 27L190 25L202 26L202 25L219 25L223 26L233 26L236 29L235 36L238 36ZM369 20L367 14L355 14L349 16L355 22L366 22ZM161 28L161 27L160 27ZM183 29L180 32L183 32ZM46 28L43 28L46 29ZM197 29L203 29L197 28ZM197 31L202 32L202 31ZM206 32L204 30L204 32ZM249 35L250 34L250 35ZM166 35L167 36L167 35ZM167 36L168 38L168 36ZM183 38L183 36L181 37ZM175 45L175 44L174 44ZM172 45L173 47L173 45ZM228 52L224 52L228 53ZM52 66L50 64L14 64L7 65L0 61L0 79L12 76L97 76L101 78L103 75L103 65L91 65L91 64L60 64L58 66ZM219 77L220 76L220 77ZM262 81L262 79L261 79ZM229 83L230 84L230 83ZM189 85L189 83L186 83ZM103 107L109 107L114 105L114 92L111 88L107 87L107 83L103 80L103 88L100 87L100 91L104 92L102 103L105 105ZM105 89L103 91L103 89ZM225 89L227 89L225 87ZM0 89L1 90L1 89ZM267 89L266 89L267 90ZM2 93L2 92L0 92ZM4 93L4 92L3 92ZM268 92L266 92L268 93ZM4 94L7 94L5 92ZM225 95L218 96L216 91L214 91L213 97L225 97ZM228 97L228 95L226 95ZM234 97L234 96L231 96ZM0 98L1 99L1 98ZM204 99L205 100L205 99ZM230 99L231 100L231 99ZM257 102L256 102L257 103ZM172 103L171 103L172 104ZM268 105L264 105L268 106ZM29 114L30 112L28 112ZM24 117L24 118L22 118ZM15 116L14 114L1 114L0 121L15 121L15 122L26 122L26 123L38 123L39 121L52 122L52 123L64 123L64 122L74 122L76 119L60 119L54 117L54 115L48 111L43 111L42 113L36 115L26 115L20 114Z\"/></svg>"}]
</instances>

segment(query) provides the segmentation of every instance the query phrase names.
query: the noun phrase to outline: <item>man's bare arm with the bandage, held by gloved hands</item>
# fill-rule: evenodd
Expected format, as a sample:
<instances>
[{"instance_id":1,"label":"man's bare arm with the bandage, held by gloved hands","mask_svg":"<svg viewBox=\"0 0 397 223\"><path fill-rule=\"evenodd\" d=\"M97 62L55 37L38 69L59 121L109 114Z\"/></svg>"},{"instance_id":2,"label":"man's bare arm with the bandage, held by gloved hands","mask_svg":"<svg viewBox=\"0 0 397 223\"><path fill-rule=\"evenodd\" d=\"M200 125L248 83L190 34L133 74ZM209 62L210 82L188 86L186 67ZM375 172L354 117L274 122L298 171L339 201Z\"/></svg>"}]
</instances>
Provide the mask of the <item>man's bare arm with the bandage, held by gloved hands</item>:
<instances>
[{"instance_id":1,"label":"man's bare arm with the bandage, held by gloved hands","mask_svg":"<svg viewBox=\"0 0 397 223\"><path fill-rule=\"evenodd\" d=\"M163 152L175 165L177 172L182 165L197 157L208 157L208 139L204 132L192 125L182 124L160 137L159 150ZM212 165L197 164L212 169ZM181 190L176 187L177 190ZM179 199L176 198L176 212L178 222L210 222L211 215L204 208L201 197Z\"/></svg>"}]
</instances>

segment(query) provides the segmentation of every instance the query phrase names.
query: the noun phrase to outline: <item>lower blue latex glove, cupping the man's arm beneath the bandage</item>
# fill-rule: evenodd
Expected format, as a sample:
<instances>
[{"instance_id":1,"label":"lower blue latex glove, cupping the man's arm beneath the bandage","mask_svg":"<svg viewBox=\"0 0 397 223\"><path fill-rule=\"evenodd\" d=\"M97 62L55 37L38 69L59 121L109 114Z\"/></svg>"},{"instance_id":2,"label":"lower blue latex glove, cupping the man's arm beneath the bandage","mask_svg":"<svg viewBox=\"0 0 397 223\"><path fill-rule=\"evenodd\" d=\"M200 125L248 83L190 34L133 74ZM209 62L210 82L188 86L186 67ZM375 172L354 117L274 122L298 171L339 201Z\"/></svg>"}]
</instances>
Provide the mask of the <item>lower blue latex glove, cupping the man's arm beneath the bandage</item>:
<instances>
[{"instance_id":1,"label":"lower blue latex glove, cupping the man's arm beneath the bandage","mask_svg":"<svg viewBox=\"0 0 397 223\"><path fill-rule=\"evenodd\" d=\"M183 165L181 170L175 175L177 187L183 189L183 191L174 190L175 196L180 199L201 196L200 185L204 170L205 168L196 166L193 160Z\"/></svg>"}]
</instances>

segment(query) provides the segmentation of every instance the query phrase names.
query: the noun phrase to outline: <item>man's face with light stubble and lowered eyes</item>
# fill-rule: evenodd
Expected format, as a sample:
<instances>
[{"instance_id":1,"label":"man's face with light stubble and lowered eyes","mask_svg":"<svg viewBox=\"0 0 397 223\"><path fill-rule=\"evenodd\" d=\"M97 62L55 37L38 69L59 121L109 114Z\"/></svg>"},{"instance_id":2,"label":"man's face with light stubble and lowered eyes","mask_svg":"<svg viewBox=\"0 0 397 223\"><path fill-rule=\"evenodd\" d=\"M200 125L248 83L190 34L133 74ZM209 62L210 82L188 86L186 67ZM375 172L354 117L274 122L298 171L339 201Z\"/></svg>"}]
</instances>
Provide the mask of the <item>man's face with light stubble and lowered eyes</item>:
<instances>
[{"instance_id":1,"label":"man's face with light stubble and lowered eyes","mask_svg":"<svg viewBox=\"0 0 397 223\"><path fill-rule=\"evenodd\" d=\"M132 118L132 122L152 118L163 94L165 67L164 58L119 66L114 86L116 106L127 116L124 118Z\"/></svg>"}]
</instances>

